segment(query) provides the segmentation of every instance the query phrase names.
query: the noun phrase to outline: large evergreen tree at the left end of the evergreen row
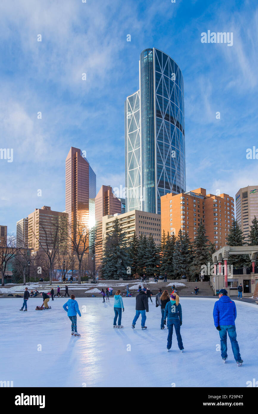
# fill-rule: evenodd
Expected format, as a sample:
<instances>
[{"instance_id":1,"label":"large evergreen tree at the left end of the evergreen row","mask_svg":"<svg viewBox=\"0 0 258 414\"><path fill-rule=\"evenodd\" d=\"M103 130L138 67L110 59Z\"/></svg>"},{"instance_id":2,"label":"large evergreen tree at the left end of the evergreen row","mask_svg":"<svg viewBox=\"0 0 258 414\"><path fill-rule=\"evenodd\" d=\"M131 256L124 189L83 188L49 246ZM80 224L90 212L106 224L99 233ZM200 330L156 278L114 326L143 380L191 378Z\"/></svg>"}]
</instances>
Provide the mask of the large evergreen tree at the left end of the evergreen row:
<instances>
[{"instance_id":1,"label":"large evergreen tree at the left end of the evergreen row","mask_svg":"<svg viewBox=\"0 0 258 414\"><path fill-rule=\"evenodd\" d=\"M114 230L108 233L103 249L102 275L104 279L127 277L127 267L131 265L127 241L115 219Z\"/></svg>"}]
</instances>

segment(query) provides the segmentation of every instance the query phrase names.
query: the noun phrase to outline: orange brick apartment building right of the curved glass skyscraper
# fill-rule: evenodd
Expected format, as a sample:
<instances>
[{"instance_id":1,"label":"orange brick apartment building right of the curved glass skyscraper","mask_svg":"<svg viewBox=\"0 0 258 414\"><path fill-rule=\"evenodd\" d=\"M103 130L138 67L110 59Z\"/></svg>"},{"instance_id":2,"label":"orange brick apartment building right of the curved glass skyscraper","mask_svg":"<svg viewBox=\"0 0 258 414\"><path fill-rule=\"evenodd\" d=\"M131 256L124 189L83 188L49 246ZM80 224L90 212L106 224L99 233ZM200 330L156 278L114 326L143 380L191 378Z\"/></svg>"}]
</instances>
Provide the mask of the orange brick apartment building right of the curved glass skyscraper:
<instances>
[{"instance_id":1,"label":"orange brick apartment building right of the curved glass skyscraper","mask_svg":"<svg viewBox=\"0 0 258 414\"><path fill-rule=\"evenodd\" d=\"M169 232L177 236L181 229L193 241L202 220L208 240L215 243L218 249L227 244L233 219L234 198L228 194L206 194L204 188L197 188L161 197L161 224L166 234Z\"/></svg>"}]
</instances>

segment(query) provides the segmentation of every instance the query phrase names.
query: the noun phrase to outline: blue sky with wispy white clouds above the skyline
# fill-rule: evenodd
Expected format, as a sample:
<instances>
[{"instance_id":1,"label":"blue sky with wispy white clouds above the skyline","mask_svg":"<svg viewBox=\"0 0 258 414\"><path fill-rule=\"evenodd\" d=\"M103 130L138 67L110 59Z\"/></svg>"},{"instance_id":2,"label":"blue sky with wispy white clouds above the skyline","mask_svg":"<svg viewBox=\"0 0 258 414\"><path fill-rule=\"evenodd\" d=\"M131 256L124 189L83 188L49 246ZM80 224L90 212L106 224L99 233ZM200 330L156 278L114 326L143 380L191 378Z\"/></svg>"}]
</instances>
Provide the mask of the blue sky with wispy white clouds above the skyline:
<instances>
[{"instance_id":1,"label":"blue sky with wispy white clouds above the skyline","mask_svg":"<svg viewBox=\"0 0 258 414\"><path fill-rule=\"evenodd\" d=\"M208 30L233 32L233 46L201 43ZM258 148L254 0L14 0L0 4L0 35L0 147L14 154L0 159L8 232L35 208L65 209L71 146L86 150L97 192L124 186L124 100L139 88L141 51L153 46L184 76L186 189L234 196L258 185L258 160L246 159Z\"/></svg>"}]
</instances>

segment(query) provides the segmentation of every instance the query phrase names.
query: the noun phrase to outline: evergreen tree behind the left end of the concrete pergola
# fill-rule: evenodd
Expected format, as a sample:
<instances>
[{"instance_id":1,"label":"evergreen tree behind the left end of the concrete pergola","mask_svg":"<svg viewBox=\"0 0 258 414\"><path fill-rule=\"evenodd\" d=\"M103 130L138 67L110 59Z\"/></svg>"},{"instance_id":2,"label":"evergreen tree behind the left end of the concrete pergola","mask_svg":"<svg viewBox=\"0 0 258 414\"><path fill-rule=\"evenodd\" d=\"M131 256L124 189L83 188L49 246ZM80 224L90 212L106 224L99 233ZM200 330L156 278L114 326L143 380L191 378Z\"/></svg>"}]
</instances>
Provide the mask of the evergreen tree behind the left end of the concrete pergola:
<instances>
[{"instance_id":1,"label":"evergreen tree behind the left end of the concrete pergola","mask_svg":"<svg viewBox=\"0 0 258 414\"><path fill-rule=\"evenodd\" d=\"M244 234L239 228L237 221L234 219L227 236L227 246L244 246L244 244ZM250 258L248 255L229 255L227 264L233 265L233 267L249 267Z\"/></svg>"}]
</instances>

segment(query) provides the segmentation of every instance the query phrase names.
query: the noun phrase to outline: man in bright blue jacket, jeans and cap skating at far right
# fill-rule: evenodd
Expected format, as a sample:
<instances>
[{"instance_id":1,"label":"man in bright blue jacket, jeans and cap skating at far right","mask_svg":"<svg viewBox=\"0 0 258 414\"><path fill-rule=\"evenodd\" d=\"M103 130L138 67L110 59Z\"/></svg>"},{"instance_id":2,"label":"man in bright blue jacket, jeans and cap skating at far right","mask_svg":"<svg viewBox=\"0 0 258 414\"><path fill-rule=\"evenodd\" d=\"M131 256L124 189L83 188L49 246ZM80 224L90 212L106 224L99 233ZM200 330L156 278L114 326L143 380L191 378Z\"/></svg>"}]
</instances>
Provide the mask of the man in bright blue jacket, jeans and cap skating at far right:
<instances>
[{"instance_id":1,"label":"man in bright blue jacket, jeans and cap skating at far right","mask_svg":"<svg viewBox=\"0 0 258 414\"><path fill-rule=\"evenodd\" d=\"M216 329L220 333L221 357L224 362L227 359L227 333L231 342L234 359L238 366L241 366L239 345L236 340L236 305L227 296L226 289L220 289L219 300L215 302L213 308L213 319Z\"/></svg>"}]
</instances>

